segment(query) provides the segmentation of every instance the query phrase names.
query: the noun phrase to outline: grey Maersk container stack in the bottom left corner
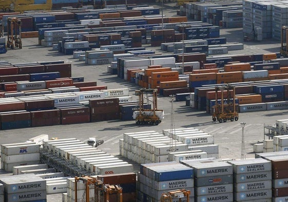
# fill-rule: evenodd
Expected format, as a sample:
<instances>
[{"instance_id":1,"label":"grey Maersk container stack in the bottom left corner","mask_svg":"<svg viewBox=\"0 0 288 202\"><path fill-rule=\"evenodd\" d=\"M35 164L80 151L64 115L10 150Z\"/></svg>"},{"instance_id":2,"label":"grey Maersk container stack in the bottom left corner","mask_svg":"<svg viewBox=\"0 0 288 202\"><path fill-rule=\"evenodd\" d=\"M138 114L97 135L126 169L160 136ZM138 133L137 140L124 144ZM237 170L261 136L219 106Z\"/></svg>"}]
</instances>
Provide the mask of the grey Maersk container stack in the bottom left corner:
<instances>
[{"instance_id":1,"label":"grey Maersk container stack in the bottom left corner","mask_svg":"<svg viewBox=\"0 0 288 202\"><path fill-rule=\"evenodd\" d=\"M46 180L34 174L4 176L4 202L41 201L46 202Z\"/></svg>"}]
</instances>

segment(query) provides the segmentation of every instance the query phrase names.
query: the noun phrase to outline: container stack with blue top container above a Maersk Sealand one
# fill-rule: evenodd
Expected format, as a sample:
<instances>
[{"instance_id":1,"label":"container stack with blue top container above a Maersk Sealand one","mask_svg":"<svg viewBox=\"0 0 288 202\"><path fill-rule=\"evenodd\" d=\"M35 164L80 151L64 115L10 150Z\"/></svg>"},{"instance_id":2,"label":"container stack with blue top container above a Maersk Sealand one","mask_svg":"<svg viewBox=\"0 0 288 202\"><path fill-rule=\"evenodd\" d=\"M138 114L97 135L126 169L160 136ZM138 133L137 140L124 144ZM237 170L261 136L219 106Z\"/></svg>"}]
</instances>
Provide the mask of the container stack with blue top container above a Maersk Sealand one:
<instances>
[{"instance_id":1,"label":"container stack with blue top container above a Maersk Sealand one","mask_svg":"<svg viewBox=\"0 0 288 202\"><path fill-rule=\"evenodd\" d=\"M194 201L194 171L175 161L141 164L137 180L137 201L160 201L162 193L182 189L190 191Z\"/></svg>"}]
</instances>

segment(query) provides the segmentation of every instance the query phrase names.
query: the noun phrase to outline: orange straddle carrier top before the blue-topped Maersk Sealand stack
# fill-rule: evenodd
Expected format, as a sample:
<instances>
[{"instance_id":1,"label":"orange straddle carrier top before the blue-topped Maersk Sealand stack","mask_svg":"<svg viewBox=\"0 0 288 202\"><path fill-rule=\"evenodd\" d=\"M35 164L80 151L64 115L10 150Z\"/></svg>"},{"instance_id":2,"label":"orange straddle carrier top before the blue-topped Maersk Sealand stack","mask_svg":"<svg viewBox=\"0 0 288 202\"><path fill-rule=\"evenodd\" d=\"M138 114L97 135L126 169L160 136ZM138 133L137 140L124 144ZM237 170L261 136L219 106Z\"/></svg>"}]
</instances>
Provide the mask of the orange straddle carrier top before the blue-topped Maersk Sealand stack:
<instances>
[{"instance_id":1,"label":"orange straddle carrier top before the blue-topped Maersk Sealand stack","mask_svg":"<svg viewBox=\"0 0 288 202\"><path fill-rule=\"evenodd\" d=\"M179 189L179 190L172 190L167 193L162 193L160 201L161 202L172 202L176 201L175 199L178 198L178 201L185 201L189 202L189 195L190 191L185 189Z\"/></svg>"}]
</instances>

